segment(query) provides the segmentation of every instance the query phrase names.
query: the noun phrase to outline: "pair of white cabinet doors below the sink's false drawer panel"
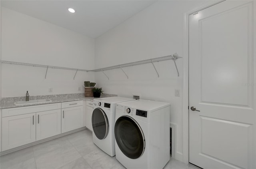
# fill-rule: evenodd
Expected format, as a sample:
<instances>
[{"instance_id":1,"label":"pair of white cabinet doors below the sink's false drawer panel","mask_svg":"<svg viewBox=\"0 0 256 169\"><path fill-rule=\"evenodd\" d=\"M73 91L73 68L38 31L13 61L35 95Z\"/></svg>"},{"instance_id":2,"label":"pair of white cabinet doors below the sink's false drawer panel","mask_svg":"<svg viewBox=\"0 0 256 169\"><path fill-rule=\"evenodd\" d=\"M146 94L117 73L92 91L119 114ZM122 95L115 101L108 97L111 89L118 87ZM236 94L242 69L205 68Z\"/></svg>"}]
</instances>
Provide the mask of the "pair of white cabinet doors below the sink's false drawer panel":
<instances>
[{"instance_id":1,"label":"pair of white cabinet doors below the sink's false drawer panel","mask_svg":"<svg viewBox=\"0 0 256 169\"><path fill-rule=\"evenodd\" d=\"M60 109L2 118L2 151L58 135Z\"/></svg>"}]
</instances>

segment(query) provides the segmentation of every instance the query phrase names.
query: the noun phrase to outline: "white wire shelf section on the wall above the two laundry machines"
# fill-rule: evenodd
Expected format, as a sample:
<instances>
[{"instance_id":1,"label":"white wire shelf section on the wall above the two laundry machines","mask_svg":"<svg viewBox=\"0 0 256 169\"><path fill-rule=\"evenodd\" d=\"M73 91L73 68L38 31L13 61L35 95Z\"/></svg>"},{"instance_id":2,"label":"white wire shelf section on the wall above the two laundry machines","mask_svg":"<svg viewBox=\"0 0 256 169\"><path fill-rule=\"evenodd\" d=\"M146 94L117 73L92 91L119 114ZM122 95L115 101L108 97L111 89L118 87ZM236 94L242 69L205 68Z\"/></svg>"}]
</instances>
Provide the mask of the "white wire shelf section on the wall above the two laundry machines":
<instances>
[{"instance_id":1,"label":"white wire shelf section on the wall above the two laundry machines","mask_svg":"<svg viewBox=\"0 0 256 169\"><path fill-rule=\"evenodd\" d=\"M100 71L102 71L103 72L105 70L112 70L112 69L117 69L117 68L120 68L120 67L124 68L124 67L128 67L128 66L148 64L148 63L159 62L159 61L164 61L164 60L174 60L175 61L178 58L182 58L182 57L178 56L178 54L175 53L173 55L162 56L162 57L159 57L159 58L140 60L140 61L137 61L137 62L130 62L130 63L127 63L127 64L120 64L120 65L116 65L116 66L110 66L110 67L101 68L101 69L94 69L94 70L90 70L90 71L92 71L92 72L100 72ZM176 62L174 62L174 64L176 66ZM153 66L154 66L154 64L153 64ZM155 70L156 70L156 68L155 68ZM176 66L176 70L178 72L177 66ZM157 74L158 74L158 72L157 72ZM158 74L158 76L159 76L159 74ZM178 72L178 76L179 76L179 72Z\"/></svg>"}]
</instances>

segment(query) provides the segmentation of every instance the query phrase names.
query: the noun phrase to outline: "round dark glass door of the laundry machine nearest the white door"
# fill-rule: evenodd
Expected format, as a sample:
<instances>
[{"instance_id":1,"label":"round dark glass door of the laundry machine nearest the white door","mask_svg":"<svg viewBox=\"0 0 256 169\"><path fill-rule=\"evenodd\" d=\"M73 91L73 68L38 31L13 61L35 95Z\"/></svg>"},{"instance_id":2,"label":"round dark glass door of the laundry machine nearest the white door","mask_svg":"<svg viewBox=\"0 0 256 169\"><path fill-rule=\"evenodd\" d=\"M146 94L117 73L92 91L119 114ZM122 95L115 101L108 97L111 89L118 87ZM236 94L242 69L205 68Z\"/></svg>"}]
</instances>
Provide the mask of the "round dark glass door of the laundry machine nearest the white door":
<instances>
[{"instance_id":1,"label":"round dark glass door of the laundry machine nearest the white door","mask_svg":"<svg viewBox=\"0 0 256 169\"><path fill-rule=\"evenodd\" d=\"M139 158L145 150L145 137L140 125L129 116L121 116L115 124L116 143L131 159Z\"/></svg>"}]
</instances>

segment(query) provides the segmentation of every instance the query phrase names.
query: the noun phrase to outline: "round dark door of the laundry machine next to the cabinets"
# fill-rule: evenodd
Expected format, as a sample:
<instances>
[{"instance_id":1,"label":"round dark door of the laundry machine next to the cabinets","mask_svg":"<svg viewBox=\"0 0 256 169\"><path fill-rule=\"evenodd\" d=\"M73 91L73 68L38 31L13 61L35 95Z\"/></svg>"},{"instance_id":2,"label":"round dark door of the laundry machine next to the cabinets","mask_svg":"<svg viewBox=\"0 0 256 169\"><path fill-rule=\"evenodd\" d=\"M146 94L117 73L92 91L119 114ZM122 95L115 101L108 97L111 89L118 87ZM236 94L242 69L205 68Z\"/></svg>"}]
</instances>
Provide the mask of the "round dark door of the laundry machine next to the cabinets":
<instances>
[{"instance_id":1,"label":"round dark door of the laundry machine next to the cabinets","mask_svg":"<svg viewBox=\"0 0 256 169\"><path fill-rule=\"evenodd\" d=\"M101 140L107 137L109 130L108 117L100 108L96 108L92 112L92 128L98 139Z\"/></svg>"}]
</instances>

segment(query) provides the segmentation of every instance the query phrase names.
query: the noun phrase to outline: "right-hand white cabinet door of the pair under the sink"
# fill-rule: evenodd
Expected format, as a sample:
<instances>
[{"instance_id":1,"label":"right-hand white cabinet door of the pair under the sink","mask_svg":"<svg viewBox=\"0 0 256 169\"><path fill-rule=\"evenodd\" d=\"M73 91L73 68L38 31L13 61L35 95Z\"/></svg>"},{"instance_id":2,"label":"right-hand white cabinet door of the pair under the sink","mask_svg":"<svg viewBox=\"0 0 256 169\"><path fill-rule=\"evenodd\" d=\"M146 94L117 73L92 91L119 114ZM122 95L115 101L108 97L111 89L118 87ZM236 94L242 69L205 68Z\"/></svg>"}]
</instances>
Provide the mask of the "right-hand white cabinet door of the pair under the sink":
<instances>
[{"instance_id":1,"label":"right-hand white cabinet door of the pair under the sink","mask_svg":"<svg viewBox=\"0 0 256 169\"><path fill-rule=\"evenodd\" d=\"M61 133L61 110L36 113L36 141Z\"/></svg>"}]
</instances>

